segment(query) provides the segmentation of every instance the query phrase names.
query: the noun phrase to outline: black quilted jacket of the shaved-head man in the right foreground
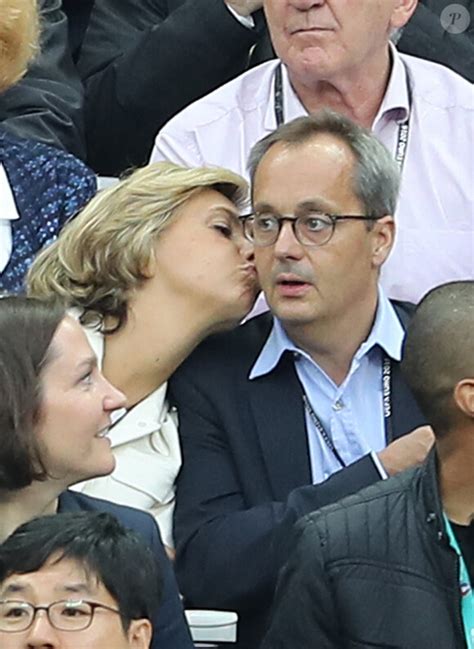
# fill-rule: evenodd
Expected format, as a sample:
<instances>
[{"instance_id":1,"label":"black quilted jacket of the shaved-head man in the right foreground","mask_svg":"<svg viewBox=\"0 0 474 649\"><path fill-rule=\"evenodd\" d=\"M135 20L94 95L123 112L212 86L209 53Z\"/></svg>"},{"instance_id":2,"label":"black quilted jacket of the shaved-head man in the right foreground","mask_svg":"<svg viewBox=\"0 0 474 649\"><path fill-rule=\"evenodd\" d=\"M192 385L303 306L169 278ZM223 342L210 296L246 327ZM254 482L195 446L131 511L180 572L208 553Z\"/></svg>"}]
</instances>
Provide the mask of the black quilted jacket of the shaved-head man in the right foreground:
<instances>
[{"instance_id":1,"label":"black quilted jacket of the shaved-head man in the right foreground","mask_svg":"<svg viewBox=\"0 0 474 649\"><path fill-rule=\"evenodd\" d=\"M466 649L434 451L298 522L262 649Z\"/></svg>"}]
</instances>

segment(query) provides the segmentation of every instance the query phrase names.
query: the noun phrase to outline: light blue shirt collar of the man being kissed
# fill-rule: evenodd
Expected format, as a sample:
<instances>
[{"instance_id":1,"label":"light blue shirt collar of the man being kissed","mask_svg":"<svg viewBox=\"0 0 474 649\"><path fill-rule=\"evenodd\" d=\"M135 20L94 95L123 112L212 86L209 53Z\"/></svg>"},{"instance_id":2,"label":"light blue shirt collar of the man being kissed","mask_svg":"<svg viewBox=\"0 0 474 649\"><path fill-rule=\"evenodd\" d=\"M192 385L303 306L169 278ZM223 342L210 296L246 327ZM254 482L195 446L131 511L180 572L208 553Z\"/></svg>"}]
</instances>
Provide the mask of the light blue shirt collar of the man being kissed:
<instances>
[{"instance_id":1,"label":"light blue shirt collar of the man being kissed","mask_svg":"<svg viewBox=\"0 0 474 649\"><path fill-rule=\"evenodd\" d=\"M357 350L355 357L362 358L378 345L390 358L400 361L404 335L403 327L395 313L395 309L379 287L373 327L367 340ZM250 370L249 379L252 380L269 374L278 365L285 352L296 353L310 359L306 352L293 343L281 322L274 317L270 335Z\"/></svg>"}]
</instances>

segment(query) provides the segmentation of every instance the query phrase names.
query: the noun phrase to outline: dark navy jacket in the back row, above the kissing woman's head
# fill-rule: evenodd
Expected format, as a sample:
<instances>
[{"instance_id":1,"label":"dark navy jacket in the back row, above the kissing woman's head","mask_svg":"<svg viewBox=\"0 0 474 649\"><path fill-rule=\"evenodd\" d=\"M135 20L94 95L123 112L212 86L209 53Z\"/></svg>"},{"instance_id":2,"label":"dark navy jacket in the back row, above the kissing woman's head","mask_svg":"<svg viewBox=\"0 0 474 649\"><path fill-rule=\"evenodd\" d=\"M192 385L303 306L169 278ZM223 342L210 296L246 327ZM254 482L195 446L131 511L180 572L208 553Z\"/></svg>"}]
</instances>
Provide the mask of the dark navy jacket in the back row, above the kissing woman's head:
<instances>
[{"instance_id":1,"label":"dark navy jacket in the back row, above the kissing woman's head","mask_svg":"<svg viewBox=\"0 0 474 649\"><path fill-rule=\"evenodd\" d=\"M93 169L147 162L163 124L245 70L257 38L223 0L95 2L78 61Z\"/></svg>"}]
</instances>

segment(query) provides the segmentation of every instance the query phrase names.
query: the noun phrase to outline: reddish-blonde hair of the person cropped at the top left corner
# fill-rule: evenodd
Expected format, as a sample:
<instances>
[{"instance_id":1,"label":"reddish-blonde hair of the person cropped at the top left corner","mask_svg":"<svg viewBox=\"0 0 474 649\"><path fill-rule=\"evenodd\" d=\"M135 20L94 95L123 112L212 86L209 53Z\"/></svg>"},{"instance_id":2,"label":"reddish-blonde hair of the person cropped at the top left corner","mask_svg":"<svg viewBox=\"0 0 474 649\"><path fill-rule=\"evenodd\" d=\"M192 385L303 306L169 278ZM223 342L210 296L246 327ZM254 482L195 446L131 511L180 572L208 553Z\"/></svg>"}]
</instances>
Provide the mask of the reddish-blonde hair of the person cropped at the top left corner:
<instances>
[{"instance_id":1,"label":"reddish-blonde hair of the person cropped at the top left corner","mask_svg":"<svg viewBox=\"0 0 474 649\"><path fill-rule=\"evenodd\" d=\"M25 74L38 35L36 0L0 0L0 92Z\"/></svg>"}]
</instances>

